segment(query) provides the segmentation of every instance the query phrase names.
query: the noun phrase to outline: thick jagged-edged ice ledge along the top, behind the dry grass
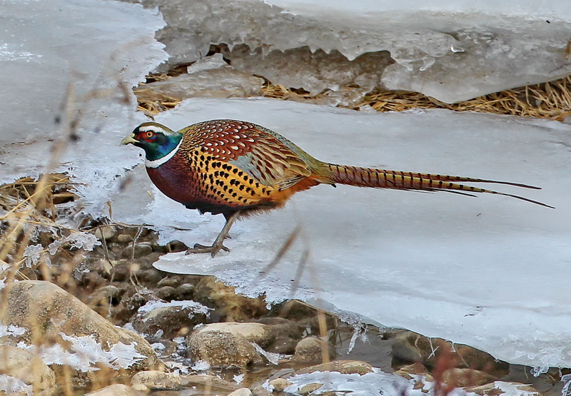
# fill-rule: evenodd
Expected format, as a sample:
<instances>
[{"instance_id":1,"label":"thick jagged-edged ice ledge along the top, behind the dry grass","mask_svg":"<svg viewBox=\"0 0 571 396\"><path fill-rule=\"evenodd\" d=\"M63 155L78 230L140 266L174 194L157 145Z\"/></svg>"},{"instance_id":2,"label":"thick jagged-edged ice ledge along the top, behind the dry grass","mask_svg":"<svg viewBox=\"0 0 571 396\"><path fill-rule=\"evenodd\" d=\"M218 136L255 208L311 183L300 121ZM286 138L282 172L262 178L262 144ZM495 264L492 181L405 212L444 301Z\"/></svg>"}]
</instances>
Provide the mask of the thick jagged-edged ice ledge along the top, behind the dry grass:
<instances>
[{"instance_id":1,"label":"thick jagged-edged ice ledge along the top, behind the dry grass","mask_svg":"<svg viewBox=\"0 0 571 396\"><path fill-rule=\"evenodd\" d=\"M451 103L571 73L567 0L131 1L161 9L173 64L227 44L233 66L314 93L356 83Z\"/></svg>"}]
</instances>

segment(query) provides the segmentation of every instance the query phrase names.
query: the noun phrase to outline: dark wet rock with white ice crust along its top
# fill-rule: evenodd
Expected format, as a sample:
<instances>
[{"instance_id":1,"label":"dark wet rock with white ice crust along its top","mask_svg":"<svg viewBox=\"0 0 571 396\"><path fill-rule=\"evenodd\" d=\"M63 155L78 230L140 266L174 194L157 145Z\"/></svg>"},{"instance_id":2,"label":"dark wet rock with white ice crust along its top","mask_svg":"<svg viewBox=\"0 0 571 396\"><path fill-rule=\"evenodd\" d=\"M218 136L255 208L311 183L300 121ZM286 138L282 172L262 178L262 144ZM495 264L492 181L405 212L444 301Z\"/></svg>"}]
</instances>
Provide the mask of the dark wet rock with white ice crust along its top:
<instances>
[{"instance_id":1,"label":"dark wet rock with white ice crust along its top","mask_svg":"<svg viewBox=\"0 0 571 396\"><path fill-rule=\"evenodd\" d=\"M133 320L133 328L148 336L162 332L161 337L172 340L173 337L188 335L194 326L205 320L206 315L196 313L191 305L167 305L139 312Z\"/></svg>"}]
</instances>

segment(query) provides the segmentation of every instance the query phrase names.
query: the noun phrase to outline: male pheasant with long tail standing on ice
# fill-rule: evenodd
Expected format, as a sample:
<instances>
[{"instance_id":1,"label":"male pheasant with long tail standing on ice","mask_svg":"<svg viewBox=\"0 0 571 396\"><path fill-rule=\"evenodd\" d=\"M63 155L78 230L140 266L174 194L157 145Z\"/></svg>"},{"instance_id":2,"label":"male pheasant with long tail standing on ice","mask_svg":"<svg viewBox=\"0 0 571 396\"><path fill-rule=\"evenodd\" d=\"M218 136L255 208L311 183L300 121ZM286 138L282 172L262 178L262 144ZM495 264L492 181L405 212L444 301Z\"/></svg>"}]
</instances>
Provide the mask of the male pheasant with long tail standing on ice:
<instances>
[{"instance_id":1,"label":"male pheasant with long tail standing on ice","mask_svg":"<svg viewBox=\"0 0 571 396\"><path fill-rule=\"evenodd\" d=\"M133 144L146 153L151 181L166 196L201 213L222 213L226 224L211 246L196 244L187 253L229 251L223 245L232 224L247 213L278 208L293 193L335 183L401 190L491 193L527 200L521 196L460 184L499 183L536 188L520 183L430 173L360 168L319 161L280 134L263 126L236 120L195 123L175 132L160 123L146 122L121 144Z\"/></svg>"}]
</instances>

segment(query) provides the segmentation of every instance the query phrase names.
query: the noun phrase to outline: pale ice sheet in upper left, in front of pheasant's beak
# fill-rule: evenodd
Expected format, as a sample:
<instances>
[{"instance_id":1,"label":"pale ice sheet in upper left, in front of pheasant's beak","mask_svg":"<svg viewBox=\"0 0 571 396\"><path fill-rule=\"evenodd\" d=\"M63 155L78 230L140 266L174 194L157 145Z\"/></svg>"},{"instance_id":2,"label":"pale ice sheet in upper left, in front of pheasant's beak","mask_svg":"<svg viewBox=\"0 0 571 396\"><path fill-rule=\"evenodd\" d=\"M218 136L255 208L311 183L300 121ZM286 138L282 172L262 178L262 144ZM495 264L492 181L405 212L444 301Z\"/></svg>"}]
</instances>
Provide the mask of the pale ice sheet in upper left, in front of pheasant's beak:
<instances>
[{"instance_id":1,"label":"pale ice sheet in upper left, in front of pheasant's beak","mask_svg":"<svg viewBox=\"0 0 571 396\"><path fill-rule=\"evenodd\" d=\"M129 88L166 58L154 39L163 24L158 11L119 1L0 2L0 183L38 176L59 151L51 170L97 180L78 190L88 213L100 213L107 189L136 161L118 141L143 121Z\"/></svg>"}]
</instances>

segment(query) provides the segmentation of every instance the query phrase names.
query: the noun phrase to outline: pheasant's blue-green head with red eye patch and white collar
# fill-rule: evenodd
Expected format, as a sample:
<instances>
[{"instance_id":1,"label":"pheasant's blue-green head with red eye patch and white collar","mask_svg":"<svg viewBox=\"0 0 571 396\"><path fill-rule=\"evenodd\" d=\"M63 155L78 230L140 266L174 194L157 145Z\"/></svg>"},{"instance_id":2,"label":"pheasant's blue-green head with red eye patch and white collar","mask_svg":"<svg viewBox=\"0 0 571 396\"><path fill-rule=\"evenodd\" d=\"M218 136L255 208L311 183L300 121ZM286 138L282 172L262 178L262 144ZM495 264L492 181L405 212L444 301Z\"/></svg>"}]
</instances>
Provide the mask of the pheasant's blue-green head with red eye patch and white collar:
<instances>
[{"instance_id":1,"label":"pheasant's blue-green head with red eye patch and white collar","mask_svg":"<svg viewBox=\"0 0 571 396\"><path fill-rule=\"evenodd\" d=\"M132 144L145 151L146 166L156 168L168 161L178 150L183 134L160 123L146 122L136 127L121 144Z\"/></svg>"}]
</instances>

